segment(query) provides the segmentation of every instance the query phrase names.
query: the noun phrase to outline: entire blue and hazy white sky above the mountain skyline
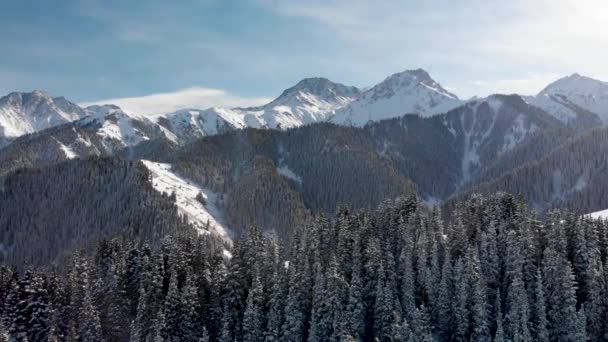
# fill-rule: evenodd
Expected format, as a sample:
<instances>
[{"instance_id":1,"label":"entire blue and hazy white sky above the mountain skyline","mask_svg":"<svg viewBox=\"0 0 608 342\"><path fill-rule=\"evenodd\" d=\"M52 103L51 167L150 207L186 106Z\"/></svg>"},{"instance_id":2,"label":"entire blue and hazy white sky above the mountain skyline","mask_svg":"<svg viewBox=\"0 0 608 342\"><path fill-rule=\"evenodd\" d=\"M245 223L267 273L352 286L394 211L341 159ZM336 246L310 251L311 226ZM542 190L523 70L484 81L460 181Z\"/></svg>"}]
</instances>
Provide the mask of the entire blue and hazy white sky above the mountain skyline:
<instances>
[{"instance_id":1,"label":"entire blue and hazy white sky above the mountain skyline","mask_svg":"<svg viewBox=\"0 0 608 342\"><path fill-rule=\"evenodd\" d=\"M0 94L259 105L305 77L424 68L467 99L608 80L605 0L0 0Z\"/></svg>"}]
</instances>

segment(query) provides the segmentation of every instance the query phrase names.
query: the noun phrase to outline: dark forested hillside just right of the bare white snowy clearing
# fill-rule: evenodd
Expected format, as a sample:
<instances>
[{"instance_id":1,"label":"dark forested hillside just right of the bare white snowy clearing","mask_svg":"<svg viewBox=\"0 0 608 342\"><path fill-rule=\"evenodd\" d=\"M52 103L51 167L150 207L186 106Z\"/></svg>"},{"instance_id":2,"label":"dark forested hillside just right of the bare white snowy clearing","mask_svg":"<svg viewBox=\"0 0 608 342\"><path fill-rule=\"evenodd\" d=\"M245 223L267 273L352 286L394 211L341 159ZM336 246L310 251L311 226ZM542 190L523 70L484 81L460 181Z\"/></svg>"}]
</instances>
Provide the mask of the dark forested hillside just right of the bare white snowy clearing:
<instances>
[{"instance_id":1,"label":"dark forested hillside just right of the bare white snowy clearing","mask_svg":"<svg viewBox=\"0 0 608 342\"><path fill-rule=\"evenodd\" d=\"M228 196L229 224L259 224L290 236L305 209L332 212L413 194L358 128L332 124L285 132L246 129L202 139L178 155L176 171ZM265 208L261 210L261 208Z\"/></svg>"}]
</instances>

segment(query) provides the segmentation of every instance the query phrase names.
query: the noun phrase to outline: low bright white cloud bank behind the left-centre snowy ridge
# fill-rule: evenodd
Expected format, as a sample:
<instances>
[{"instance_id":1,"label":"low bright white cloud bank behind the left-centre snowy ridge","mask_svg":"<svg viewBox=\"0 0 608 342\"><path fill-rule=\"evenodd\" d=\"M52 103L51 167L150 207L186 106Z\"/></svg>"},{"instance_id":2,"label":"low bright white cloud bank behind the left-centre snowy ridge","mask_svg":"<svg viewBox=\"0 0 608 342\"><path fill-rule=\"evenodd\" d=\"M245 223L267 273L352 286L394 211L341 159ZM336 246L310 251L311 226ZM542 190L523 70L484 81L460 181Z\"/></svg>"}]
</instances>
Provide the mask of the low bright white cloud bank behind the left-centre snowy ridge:
<instances>
[{"instance_id":1,"label":"low bright white cloud bank behind the left-centre snowy ridge","mask_svg":"<svg viewBox=\"0 0 608 342\"><path fill-rule=\"evenodd\" d=\"M86 107L96 104L114 104L128 113L158 116L186 108L259 106L271 100L268 97L241 97L221 89L192 87L169 93L98 100L79 105Z\"/></svg>"}]
</instances>

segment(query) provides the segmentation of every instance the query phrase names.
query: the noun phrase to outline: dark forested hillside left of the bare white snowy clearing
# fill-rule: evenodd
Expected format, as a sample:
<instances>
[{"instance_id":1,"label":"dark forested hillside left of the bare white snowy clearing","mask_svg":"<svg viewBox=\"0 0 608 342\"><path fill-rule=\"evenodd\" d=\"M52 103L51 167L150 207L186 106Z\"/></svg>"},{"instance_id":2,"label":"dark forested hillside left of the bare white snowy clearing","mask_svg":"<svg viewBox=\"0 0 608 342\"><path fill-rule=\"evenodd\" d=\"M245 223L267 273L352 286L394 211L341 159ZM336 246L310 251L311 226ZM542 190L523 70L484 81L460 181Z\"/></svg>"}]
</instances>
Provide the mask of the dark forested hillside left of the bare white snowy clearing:
<instances>
[{"instance_id":1,"label":"dark forested hillside left of the bare white snowy clearing","mask_svg":"<svg viewBox=\"0 0 608 342\"><path fill-rule=\"evenodd\" d=\"M122 235L156 245L190 230L171 194L152 188L140 162L118 158L72 160L10 174L0 190L2 262L61 266L78 248Z\"/></svg>"}]
</instances>

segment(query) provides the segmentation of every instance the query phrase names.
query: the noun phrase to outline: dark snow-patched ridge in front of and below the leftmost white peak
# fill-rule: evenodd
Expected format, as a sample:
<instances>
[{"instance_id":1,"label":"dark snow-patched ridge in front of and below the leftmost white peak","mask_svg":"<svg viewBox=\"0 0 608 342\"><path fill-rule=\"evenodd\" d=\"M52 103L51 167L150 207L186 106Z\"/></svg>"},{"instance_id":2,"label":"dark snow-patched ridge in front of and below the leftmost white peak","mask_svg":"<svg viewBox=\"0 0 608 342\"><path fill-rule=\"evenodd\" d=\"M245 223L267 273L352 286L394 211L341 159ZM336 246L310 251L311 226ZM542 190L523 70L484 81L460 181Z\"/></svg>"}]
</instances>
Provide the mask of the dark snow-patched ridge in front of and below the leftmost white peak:
<instances>
[{"instance_id":1,"label":"dark snow-patched ridge in front of and below the leftmost white peak","mask_svg":"<svg viewBox=\"0 0 608 342\"><path fill-rule=\"evenodd\" d=\"M111 105L87 107L82 119L26 134L0 150L0 178L11 171L89 156L152 158L177 144L170 132L147 118ZM162 141L162 143L158 143Z\"/></svg>"}]
</instances>

